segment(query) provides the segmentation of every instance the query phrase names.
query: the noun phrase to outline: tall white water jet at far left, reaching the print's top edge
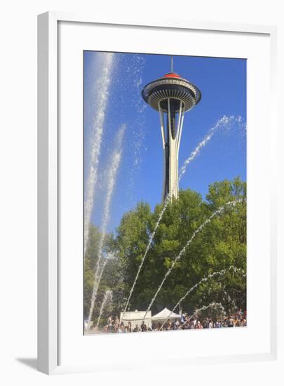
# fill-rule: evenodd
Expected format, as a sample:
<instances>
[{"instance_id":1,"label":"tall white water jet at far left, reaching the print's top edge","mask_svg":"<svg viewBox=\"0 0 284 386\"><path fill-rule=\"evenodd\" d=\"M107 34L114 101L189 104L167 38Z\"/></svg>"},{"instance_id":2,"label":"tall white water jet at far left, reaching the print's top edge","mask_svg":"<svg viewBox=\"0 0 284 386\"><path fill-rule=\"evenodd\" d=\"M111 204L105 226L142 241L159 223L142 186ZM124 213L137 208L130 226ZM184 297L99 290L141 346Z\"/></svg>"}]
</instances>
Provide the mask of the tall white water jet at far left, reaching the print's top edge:
<instances>
[{"instance_id":1,"label":"tall white water jet at far left, reaching the print's top edge","mask_svg":"<svg viewBox=\"0 0 284 386\"><path fill-rule=\"evenodd\" d=\"M111 85L111 72L114 67L114 53L102 53L102 75L95 83L96 110L93 122L93 130L90 133L90 166L89 175L86 182L86 199L84 206L84 257L88 246L90 216L93 211L94 189L97 182L97 166L100 157L100 147L102 144L102 132L104 128L104 118L107 111L109 100L109 88Z\"/></svg>"}]
</instances>

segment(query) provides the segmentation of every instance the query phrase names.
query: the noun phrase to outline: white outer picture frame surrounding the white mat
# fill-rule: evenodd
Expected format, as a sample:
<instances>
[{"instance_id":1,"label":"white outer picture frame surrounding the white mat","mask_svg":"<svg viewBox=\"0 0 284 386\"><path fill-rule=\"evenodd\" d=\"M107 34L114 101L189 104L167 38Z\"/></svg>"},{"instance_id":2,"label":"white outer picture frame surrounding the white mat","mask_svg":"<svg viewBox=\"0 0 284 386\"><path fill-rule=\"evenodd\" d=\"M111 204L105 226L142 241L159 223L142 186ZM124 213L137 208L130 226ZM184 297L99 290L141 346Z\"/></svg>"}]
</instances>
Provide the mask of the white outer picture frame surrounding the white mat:
<instances>
[{"instance_id":1,"label":"white outer picture frame surrounding the white mat","mask_svg":"<svg viewBox=\"0 0 284 386\"><path fill-rule=\"evenodd\" d=\"M276 127L276 27L261 25L231 25L219 22L194 22L184 20L168 20L157 22L143 20L132 22L131 20L96 20L95 16L68 14L68 13L44 13L39 15L38 26L38 368L43 373L67 373L72 371L101 371L107 370L97 364L60 364L59 337L60 329L60 265L58 251L60 245L59 232L59 186L62 175L59 173L59 151L58 121L60 106L58 105L58 26L60 22L76 22L92 25L114 25L124 28L133 25L140 29L160 28L175 29L180 31L196 30L200 32L226 32L231 34L265 34L269 37L270 44L270 140L271 148L276 149L277 127ZM102 39L103 44L103 39ZM276 153L272 153L270 166L276 165ZM269 298L271 301L270 316L270 349L266 352L252 352L251 354L236 354L229 356L219 355L217 357L191 358L191 364L214 364L246 362L246 361L276 361L280 366L278 358L278 327L277 327L277 254L276 254L276 168L271 171L271 240L270 240L270 288ZM69 337L72 340L72 336ZM103 337L100 337L103 338ZM92 338L91 338L92 339ZM161 338L159 338L161 340ZM168 358L168 362L170 357ZM185 366L187 361L180 360L180 365ZM139 361L132 364L130 368L139 366ZM168 365L167 365L168 366ZM115 366L114 366L115 367ZM117 364L117 369L120 365Z\"/></svg>"}]
</instances>

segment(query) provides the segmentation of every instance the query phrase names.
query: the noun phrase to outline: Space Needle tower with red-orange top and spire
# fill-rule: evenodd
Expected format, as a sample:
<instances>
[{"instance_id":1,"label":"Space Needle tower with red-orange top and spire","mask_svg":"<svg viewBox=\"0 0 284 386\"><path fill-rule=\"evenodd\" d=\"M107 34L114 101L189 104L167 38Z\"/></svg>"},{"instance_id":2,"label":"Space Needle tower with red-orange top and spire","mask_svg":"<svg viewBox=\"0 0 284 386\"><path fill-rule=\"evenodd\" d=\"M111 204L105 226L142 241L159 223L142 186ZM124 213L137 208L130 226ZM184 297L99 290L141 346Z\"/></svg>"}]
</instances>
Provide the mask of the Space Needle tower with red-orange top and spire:
<instances>
[{"instance_id":1,"label":"Space Needle tower with red-orange top and spire","mask_svg":"<svg viewBox=\"0 0 284 386\"><path fill-rule=\"evenodd\" d=\"M144 86L142 97L159 112L164 154L163 199L178 195L178 158L184 113L201 100L201 91L173 71Z\"/></svg>"}]
</instances>

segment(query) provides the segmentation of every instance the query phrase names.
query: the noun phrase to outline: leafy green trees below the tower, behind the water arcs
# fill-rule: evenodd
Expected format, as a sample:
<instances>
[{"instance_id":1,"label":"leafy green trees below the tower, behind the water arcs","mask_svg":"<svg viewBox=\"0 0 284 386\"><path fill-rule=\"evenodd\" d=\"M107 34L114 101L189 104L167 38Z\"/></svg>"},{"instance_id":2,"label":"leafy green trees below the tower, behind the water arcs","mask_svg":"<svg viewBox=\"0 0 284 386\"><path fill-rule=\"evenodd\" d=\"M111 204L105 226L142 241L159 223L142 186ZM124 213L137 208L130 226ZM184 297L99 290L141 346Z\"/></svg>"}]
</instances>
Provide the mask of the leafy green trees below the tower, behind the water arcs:
<instances>
[{"instance_id":1,"label":"leafy green trees below the tower, behind the water arcs","mask_svg":"<svg viewBox=\"0 0 284 386\"><path fill-rule=\"evenodd\" d=\"M209 186L206 199L190 189L181 190L163 214L151 248L144 260L140 276L128 305L129 310L146 310L173 260L180 253L194 231L218 208L229 201L242 199L228 206L196 234L173 271L165 280L151 307L152 314L163 307L172 310L191 286L213 272L223 274L204 281L182 301L182 310L194 312L210 302L222 303L227 313L234 307L246 308L246 183L236 178ZM133 281L149 243L151 233L163 209L158 204L151 211L149 204L140 202L123 215L115 234L109 234L105 256L111 257L102 275L93 320L97 319L104 291L110 289L113 301L107 305L101 324L108 313L120 314L133 286ZM93 288L97 244L100 232L90 226L90 238L84 269L84 312L88 315ZM236 267L237 270L229 269Z\"/></svg>"}]
</instances>

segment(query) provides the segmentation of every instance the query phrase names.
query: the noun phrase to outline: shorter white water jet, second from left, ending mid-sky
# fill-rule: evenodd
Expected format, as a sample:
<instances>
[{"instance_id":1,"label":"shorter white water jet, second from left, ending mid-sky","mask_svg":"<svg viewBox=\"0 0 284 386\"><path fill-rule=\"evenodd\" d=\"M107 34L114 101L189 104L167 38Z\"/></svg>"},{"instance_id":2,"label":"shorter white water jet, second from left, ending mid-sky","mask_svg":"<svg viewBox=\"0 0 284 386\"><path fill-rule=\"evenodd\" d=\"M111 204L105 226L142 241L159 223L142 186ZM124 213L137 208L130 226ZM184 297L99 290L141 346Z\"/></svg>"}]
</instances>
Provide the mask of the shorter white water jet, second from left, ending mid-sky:
<instances>
[{"instance_id":1,"label":"shorter white water jet, second from left, ending mid-sky","mask_svg":"<svg viewBox=\"0 0 284 386\"><path fill-rule=\"evenodd\" d=\"M94 277L94 284L93 284L93 294L91 298L90 303L90 313L88 317L88 328L90 328L90 321L92 319L93 310L95 306L95 299L97 298L97 290L100 286L100 279L102 277L102 273L104 271L104 267L107 262L107 258L104 258L104 263L102 267L100 266L101 260L103 258L103 247L104 247L104 240L107 233L107 225L109 223L109 211L111 206L111 197L114 192L114 186L116 183L116 177L117 173L119 171L119 165L121 162L121 154L122 154L122 141L123 141L123 135L126 130L126 125L123 124L121 128L119 128L119 132L116 136L116 145L114 152L111 156L111 162L109 164L109 170L107 171L107 196L104 201L104 211L103 211L103 218L102 218L102 235L100 237L100 243L98 246L98 252L97 252L97 262L95 265L95 277Z\"/></svg>"}]
</instances>

